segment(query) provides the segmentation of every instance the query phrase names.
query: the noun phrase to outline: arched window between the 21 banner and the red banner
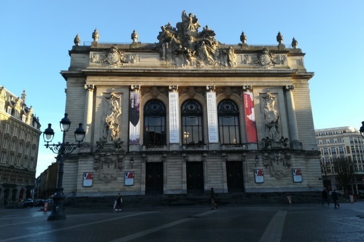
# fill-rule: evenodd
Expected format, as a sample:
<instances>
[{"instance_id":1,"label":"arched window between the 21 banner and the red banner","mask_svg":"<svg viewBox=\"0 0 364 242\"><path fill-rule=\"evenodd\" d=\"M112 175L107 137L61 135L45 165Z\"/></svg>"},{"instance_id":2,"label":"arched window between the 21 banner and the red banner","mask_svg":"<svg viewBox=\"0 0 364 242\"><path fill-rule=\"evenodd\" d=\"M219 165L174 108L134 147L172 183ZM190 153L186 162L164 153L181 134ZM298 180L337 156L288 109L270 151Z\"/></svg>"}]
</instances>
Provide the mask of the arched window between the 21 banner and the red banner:
<instances>
[{"instance_id":1,"label":"arched window between the 21 banner and the red banner","mask_svg":"<svg viewBox=\"0 0 364 242\"><path fill-rule=\"evenodd\" d=\"M239 108L224 99L217 105L220 144L240 144Z\"/></svg>"}]
</instances>

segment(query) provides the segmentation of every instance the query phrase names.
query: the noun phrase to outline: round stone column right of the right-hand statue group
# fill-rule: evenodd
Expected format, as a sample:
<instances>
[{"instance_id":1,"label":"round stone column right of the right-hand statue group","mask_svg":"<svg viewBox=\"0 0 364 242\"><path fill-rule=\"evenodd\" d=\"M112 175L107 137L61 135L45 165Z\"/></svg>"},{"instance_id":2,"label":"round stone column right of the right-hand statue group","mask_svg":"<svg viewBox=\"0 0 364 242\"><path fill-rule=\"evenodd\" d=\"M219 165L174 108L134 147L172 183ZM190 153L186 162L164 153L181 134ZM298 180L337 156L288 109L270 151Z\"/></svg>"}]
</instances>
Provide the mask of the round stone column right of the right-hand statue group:
<instances>
[{"instance_id":1,"label":"round stone column right of the right-hand statue group","mask_svg":"<svg viewBox=\"0 0 364 242\"><path fill-rule=\"evenodd\" d=\"M297 130L297 119L296 119L296 111L295 111L295 103L293 100L293 89L294 85L286 85L286 99L287 99L287 113L288 113L288 125L290 130L290 141L291 141L291 149L294 150L302 150L302 143L299 142L298 139L298 130Z\"/></svg>"}]
</instances>

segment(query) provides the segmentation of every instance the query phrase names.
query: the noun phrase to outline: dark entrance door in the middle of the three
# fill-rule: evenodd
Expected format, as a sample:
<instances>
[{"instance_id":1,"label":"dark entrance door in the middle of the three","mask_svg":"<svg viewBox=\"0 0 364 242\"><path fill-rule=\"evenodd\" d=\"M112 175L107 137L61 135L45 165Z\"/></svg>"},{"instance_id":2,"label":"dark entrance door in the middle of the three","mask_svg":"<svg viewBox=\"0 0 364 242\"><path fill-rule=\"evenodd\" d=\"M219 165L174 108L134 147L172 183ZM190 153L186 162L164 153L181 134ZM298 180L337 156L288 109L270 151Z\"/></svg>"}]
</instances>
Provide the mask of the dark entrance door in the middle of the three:
<instances>
[{"instance_id":1,"label":"dark entrance door in the middle of the three","mask_svg":"<svg viewBox=\"0 0 364 242\"><path fill-rule=\"evenodd\" d=\"M187 193L203 193L203 162L186 162Z\"/></svg>"}]
</instances>

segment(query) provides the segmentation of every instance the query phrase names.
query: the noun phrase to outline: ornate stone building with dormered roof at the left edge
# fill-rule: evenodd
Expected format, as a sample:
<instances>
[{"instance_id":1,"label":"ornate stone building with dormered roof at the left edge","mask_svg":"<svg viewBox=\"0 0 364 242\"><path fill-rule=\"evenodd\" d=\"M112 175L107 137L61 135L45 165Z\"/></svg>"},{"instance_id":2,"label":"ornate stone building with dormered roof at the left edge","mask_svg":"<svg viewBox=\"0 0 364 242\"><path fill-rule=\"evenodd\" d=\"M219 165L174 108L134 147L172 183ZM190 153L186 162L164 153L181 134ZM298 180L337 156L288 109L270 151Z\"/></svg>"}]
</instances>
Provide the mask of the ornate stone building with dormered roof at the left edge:
<instances>
[{"instance_id":1,"label":"ornate stone building with dormered roof at the left edge","mask_svg":"<svg viewBox=\"0 0 364 242\"><path fill-rule=\"evenodd\" d=\"M0 87L0 206L31 198L34 188L41 131L25 97Z\"/></svg>"}]
</instances>

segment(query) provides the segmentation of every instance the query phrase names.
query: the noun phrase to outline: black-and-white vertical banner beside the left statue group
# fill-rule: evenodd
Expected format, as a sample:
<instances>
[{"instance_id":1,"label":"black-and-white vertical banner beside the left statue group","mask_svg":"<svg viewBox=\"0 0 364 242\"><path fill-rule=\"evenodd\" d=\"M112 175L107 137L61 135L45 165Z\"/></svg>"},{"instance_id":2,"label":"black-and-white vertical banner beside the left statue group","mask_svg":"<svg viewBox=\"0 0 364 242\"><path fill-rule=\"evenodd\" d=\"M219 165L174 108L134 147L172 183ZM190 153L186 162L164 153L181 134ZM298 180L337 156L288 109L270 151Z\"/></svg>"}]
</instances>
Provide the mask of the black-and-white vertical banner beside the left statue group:
<instances>
[{"instance_id":1,"label":"black-and-white vertical banner beside the left statue group","mask_svg":"<svg viewBox=\"0 0 364 242\"><path fill-rule=\"evenodd\" d=\"M130 92L129 144L139 144L140 141L139 104L140 104L140 93Z\"/></svg>"}]
</instances>

